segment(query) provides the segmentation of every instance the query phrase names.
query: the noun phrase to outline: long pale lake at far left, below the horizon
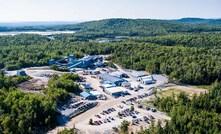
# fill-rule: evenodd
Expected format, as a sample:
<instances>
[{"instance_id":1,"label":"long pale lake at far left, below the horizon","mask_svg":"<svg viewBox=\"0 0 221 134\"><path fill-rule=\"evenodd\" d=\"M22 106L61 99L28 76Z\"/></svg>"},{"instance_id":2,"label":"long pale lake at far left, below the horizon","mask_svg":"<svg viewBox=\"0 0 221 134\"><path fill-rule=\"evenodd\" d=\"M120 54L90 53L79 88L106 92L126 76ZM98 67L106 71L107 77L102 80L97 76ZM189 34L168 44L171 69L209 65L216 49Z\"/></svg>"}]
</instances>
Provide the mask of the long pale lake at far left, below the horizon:
<instances>
[{"instance_id":1,"label":"long pale lake at far left, below the horizon","mask_svg":"<svg viewBox=\"0 0 221 134\"><path fill-rule=\"evenodd\" d=\"M6 35L19 35L19 34L38 34L38 35L54 35L54 34L73 34L75 31L13 31L13 32L0 32L0 36Z\"/></svg>"}]
</instances>

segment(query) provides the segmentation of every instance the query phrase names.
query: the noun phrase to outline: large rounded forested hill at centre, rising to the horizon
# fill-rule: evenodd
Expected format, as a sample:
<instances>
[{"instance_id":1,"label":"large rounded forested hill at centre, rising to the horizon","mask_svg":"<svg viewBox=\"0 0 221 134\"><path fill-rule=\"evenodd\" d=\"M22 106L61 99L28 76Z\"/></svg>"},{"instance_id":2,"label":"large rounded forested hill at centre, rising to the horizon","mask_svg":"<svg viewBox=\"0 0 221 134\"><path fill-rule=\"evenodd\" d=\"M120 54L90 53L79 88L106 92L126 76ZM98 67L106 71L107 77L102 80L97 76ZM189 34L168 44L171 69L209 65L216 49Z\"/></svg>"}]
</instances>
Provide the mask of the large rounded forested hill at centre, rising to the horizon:
<instances>
[{"instance_id":1,"label":"large rounded forested hill at centre, rising to the horizon","mask_svg":"<svg viewBox=\"0 0 221 134\"><path fill-rule=\"evenodd\" d=\"M81 33L128 36L152 36L174 32L221 31L221 26L219 25L183 24L180 22L153 19L106 19L67 25L63 28L77 29Z\"/></svg>"}]
</instances>

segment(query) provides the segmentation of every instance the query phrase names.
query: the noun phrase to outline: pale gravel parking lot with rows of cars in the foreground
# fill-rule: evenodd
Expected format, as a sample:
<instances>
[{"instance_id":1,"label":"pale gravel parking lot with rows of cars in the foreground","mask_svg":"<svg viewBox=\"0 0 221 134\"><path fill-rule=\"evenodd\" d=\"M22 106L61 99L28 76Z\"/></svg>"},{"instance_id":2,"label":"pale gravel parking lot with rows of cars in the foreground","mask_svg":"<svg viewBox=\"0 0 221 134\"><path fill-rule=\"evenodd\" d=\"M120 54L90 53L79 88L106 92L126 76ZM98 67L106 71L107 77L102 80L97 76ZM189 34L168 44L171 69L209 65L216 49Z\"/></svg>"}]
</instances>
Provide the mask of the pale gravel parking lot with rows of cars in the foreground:
<instances>
[{"instance_id":1,"label":"pale gravel parking lot with rows of cars in the foreground","mask_svg":"<svg viewBox=\"0 0 221 134\"><path fill-rule=\"evenodd\" d=\"M90 133L103 133L112 130L114 127L119 127L123 120L132 123L131 129L138 130L140 126L148 128L150 119L154 119L155 123L158 120L169 120L170 118L159 111L152 112L151 110L140 109L135 106L135 111L131 111L131 105L120 103L113 107L100 110L97 114L88 117L86 120L76 124L79 129L87 128ZM89 119L93 120L94 125L89 125Z\"/></svg>"}]
</instances>

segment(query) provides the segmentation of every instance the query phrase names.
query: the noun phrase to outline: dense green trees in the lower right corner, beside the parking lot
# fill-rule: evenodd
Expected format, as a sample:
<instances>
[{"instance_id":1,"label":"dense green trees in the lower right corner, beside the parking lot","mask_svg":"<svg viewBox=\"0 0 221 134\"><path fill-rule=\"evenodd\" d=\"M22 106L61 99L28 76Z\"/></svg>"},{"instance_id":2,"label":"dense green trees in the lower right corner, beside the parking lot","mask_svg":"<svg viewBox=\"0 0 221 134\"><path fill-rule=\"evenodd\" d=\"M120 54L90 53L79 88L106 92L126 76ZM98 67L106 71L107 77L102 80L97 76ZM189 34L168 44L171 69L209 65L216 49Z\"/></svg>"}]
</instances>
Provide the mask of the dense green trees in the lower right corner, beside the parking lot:
<instances>
[{"instance_id":1,"label":"dense green trees in the lower right corner, beside the parking lot","mask_svg":"<svg viewBox=\"0 0 221 134\"><path fill-rule=\"evenodd\" d=\"M194 95L189 99L183 92L153 101L160 110L167 112L171 120L161 127L151 125L138 134L219 134L221 132L221 83L215 82L208 94Z\"/></svg>"}]
</instances>

